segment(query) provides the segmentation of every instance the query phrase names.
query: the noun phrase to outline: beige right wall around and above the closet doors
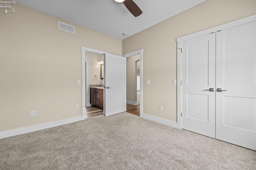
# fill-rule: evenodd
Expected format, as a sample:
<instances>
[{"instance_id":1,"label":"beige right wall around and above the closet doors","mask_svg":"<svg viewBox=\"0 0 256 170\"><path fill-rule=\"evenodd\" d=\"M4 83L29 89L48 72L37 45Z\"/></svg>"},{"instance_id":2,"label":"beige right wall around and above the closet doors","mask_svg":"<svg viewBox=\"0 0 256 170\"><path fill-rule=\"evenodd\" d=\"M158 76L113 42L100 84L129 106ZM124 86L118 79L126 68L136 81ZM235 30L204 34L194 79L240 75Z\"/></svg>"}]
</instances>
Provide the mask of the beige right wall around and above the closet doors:
<instances>
[{"instance_id":1,"label":"beige right wall around and above the closet doors","mask_svg":"<svg viewBox=\"0 0 256 170\"><path fill-rule=\"evenodd\" d=\"M256 1L207 0L124 39L123 54L144 49L143 113L176 122L176 38L254 14Z\"/></svg>"}]
</instances>

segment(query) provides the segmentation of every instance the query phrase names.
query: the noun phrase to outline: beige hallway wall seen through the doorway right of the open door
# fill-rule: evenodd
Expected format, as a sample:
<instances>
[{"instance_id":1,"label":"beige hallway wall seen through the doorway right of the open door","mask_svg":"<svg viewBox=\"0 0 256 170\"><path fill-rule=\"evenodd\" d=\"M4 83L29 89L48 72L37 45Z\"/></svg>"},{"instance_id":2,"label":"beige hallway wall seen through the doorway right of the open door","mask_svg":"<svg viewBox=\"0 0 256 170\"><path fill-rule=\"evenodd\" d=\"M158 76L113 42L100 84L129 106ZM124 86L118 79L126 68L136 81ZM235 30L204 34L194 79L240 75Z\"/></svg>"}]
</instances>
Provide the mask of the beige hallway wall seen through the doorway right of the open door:
<instances>
[{"instance_id":1,"label":"beige hallway wall seen through the doorway right of the open door","mask_svg":"<svg viewBox=\"0 0 256 170\"><path fill-rule=\"evenodd\" d=\"M130 102L137 102L136 61L138 60L140 60L140 55L126 58L126 100Z\"/></svg>"}]
</instances>

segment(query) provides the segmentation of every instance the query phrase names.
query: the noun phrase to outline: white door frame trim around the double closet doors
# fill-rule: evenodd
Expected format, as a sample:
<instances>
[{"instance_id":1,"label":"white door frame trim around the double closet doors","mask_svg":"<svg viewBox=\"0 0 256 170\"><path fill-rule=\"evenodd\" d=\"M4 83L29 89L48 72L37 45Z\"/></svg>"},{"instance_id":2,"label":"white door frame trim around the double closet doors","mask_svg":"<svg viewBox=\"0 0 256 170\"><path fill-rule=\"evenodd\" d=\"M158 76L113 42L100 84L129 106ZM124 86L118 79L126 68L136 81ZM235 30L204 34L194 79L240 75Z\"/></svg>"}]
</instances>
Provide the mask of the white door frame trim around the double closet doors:
<instances>
[{"instance_id":1,"label":"white door frame trim around the double closet doors","mask_svg":"<svg viewBox=\"0 0 256 170\"><path fill-rule=\"evenodd\" d=\"M217 32L220 30L224 30L224 29L229 29L232 27L236 27L239 25L243 25L246 23L250 23L250 22L254 22L256 21L256 14L252 15L252 16L248 16L246 18L242 18L236 21L232 21L229 23L224 23L222 25L218 25L216 27L212 27L209 29L205 29L203 31L199 31L196 33L192 33L190 35L185 35L183 37L179 37L176 39L177 42L177 128L178 129L182 129L182 121L181 121L181 113L182 113L182 98L181 98L181 80L182 80L182 53L181 53L181 47L182 47L182 41L188 40L188 39L192 39L192 38L196 38L196 37L200 37L212 32Z\"/></svg>"}]
</instances>

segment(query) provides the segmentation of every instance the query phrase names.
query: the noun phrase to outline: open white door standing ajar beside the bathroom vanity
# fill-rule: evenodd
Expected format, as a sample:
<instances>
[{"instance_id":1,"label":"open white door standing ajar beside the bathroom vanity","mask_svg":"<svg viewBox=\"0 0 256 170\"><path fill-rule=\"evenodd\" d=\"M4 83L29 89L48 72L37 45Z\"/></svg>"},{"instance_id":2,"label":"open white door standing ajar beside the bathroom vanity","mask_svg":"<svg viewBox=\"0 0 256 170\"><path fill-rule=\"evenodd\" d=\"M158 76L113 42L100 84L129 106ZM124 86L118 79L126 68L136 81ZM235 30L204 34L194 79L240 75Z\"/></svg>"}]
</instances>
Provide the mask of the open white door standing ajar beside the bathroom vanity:
<instances>
[{"instance_id":1,"label":"open white door standing ajar beside the bathroom vanity","mask_svg":"<svg viewBox=\"0 0 256 170\"><path fill-rule=\"evenodd\" d=\"M126 58L104 56L104 114L114 115L126 111Z\"/></svg>"}]
</instances>

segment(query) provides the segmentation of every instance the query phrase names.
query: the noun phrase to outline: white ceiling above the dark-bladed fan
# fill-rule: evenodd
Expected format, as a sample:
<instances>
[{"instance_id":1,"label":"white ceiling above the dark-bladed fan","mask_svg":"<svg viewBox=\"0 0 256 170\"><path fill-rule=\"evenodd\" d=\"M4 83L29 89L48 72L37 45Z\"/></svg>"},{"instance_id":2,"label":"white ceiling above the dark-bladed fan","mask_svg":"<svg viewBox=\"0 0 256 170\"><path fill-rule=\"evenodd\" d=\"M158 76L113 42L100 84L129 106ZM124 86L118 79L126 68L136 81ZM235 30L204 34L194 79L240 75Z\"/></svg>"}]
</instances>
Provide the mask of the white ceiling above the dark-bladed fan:
<instances>
[{"instance_id":1,"label":"white ceiling above the dark-bladed fan","mask_svg":"<svg viewBox=\"0 0 256 170\"><path fill-rule=\"evenodd\" d=\"M18 0L17 3L124 39L205 0L134 0L142 14L134 17L114 0ZM122 35L124 32L128 35Z\"/></svg>"}]
</instances>

